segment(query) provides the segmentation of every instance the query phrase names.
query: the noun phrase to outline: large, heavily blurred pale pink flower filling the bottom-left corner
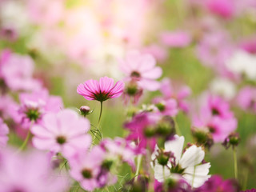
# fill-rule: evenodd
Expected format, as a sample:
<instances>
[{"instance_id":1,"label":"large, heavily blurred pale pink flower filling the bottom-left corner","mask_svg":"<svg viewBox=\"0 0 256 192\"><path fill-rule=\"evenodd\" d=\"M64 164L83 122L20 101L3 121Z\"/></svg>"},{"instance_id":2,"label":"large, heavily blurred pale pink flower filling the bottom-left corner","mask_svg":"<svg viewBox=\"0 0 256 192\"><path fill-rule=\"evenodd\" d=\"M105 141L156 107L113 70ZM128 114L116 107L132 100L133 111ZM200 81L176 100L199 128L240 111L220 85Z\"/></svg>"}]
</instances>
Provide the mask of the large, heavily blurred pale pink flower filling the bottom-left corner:
<instances>
[{"instance_id":1,"label":"large, heavily blurred pale pink flower filling the bottom-left corner","mask_svg":"<svg viewBox=\"0 0 256 192\"><path fill-rule=\"evenodd\" d=\"M3 150L0 154L1 191L64 192L69 187L64 175L51 170L46 154L37 151L14 154L13 150Z\"/></svg>"}]
</instances>

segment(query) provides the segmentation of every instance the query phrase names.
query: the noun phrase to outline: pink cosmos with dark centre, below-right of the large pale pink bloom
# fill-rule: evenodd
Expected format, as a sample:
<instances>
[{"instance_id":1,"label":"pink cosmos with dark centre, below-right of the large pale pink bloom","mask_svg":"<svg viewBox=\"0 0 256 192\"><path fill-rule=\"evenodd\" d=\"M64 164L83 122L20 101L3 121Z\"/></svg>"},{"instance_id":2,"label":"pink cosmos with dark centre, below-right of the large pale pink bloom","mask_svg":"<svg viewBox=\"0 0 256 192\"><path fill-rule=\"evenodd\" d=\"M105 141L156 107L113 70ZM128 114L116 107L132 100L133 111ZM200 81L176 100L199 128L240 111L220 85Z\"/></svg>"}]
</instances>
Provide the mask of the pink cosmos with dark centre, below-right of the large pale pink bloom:
<instances>
[{"instance_id":1,"label":"pink cosmos with dark centre, below-right of the large pale pink bloom","mask_svg":"<svg viewBox=\"0 0 256 192\"><path fill-rule=\"evenodd\" d=\"M104 167L105 152L100 146L87 153L78 153L70 159L70 175L83 189L93 191L116 182Z\"/></svg>"}]
</instances>

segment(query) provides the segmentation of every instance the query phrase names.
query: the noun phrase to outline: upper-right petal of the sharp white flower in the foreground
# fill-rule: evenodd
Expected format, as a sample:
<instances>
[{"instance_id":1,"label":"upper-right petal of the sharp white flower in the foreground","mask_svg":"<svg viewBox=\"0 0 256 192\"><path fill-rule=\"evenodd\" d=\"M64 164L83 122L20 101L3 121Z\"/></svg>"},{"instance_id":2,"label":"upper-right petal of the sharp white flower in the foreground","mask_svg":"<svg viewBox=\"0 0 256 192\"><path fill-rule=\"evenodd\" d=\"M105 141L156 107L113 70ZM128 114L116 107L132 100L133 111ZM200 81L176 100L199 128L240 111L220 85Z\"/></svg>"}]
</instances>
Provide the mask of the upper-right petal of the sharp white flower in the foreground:
<instances>
[{"instance_id":1,"label":"upper-right petal of the sharp white flower in the foreground","mask_svg":"<svg viewBox=\"0 0 256 192\"><path fill-rule=\"evenodd\" d=\"M190 146L190 148L188 148L182 155L179 164L182 166L182 168L186 168L188 166L196 166L202 162L204 157L205 152L202 150L201 146Z\"/></svg>"}]
</instances>

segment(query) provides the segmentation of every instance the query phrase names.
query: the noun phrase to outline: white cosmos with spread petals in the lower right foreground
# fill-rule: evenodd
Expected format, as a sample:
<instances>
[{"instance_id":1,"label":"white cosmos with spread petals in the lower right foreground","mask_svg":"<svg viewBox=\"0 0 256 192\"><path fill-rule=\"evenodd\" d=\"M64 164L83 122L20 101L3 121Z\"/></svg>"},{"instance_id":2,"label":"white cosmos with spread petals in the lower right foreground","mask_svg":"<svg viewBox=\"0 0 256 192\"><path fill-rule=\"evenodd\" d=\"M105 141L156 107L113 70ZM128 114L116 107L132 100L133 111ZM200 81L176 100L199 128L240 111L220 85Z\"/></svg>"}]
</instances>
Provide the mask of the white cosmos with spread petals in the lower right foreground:
<instances>
[{"instance_id":1,"label":"white cosmos with spread petals in the lower right foreground","mask_svg":"<svg viewBox=\"0 0 256 192\"><path fill-rule=\"evenodd\" d=\"M154 178L158 182L164 182L166 178L176 180L183 178L192 187L202 186L210 178L210 175L208 175L210 162L202 164L202 160L205 157L202 147L190 146L182 154L183 145L184 137L179 137L177 134L174 136L174 140L165 142L164 152L171 152L174 156L174 158L169 159L166 166L158 163L158 146L155 147L154 153L151 156L154 161Z\"/></svg>"}]
</instances>

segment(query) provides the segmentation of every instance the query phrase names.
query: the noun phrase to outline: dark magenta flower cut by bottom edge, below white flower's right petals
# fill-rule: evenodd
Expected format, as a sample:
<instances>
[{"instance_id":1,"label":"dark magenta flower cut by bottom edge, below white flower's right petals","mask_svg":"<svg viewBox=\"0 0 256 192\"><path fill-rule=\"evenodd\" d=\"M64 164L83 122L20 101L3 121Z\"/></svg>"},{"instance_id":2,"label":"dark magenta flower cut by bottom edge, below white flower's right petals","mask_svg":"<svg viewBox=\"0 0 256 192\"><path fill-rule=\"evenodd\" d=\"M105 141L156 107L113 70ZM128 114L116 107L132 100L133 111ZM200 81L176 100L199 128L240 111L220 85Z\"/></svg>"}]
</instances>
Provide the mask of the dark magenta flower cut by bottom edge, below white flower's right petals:
<instances>
[{"instance_id":1,"label":"dark magenta flower cut by bottom edge, below white flower's right petals","mask_svg":"<svg viewBox=\"0 0 256 192\"><path fill-rule=\"evenodd\" d=\"M221 176L213 175L207 182L194 192L216 192L216 191L229 191L238 192L239 186L235 180L227 179L223 180Z\"/></svg>"}]
</instances>

